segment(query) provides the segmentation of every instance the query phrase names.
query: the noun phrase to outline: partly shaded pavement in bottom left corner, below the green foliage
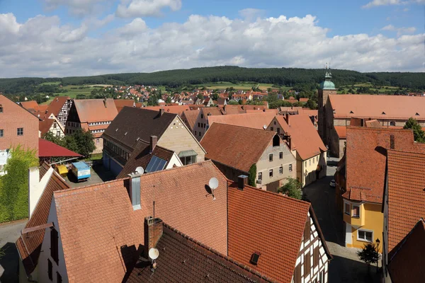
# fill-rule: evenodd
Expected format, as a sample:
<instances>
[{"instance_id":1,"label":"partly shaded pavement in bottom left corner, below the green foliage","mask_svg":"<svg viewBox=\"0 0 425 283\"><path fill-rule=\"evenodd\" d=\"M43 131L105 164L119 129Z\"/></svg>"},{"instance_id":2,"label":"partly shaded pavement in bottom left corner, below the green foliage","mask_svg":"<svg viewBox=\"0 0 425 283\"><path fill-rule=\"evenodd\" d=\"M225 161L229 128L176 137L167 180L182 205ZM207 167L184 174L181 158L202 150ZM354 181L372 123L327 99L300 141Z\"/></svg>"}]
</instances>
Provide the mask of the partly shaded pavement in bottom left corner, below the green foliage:
<instances>
[{"instance_id":1,"label":"partly shaded pavement in bottom left corner, below the green foliage","mask_svg":"<svg viewBox=\"0 0 425 283\"><path fill-rule=\"evenodd\" d=\"M0 224L0 248L6 255L0 259L0 282L18 282L19 255L15 242L27 219Z\"/></svg>"}]
</instances>

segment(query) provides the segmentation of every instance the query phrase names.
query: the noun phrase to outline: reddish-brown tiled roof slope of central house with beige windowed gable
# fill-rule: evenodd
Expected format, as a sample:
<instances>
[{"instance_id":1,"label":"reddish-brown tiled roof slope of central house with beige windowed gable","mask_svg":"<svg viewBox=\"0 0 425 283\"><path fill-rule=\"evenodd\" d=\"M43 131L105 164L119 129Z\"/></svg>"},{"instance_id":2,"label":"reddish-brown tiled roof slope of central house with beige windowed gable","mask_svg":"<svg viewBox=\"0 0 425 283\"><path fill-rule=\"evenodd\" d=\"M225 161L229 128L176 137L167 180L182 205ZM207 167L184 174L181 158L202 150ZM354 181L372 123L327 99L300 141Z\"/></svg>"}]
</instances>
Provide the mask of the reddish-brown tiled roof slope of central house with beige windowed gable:
<instances>
[{"instance_id":1,"label":"reddish-brown tiled roof slope of central house with beige windowed gable","mask_svg":"<svg viewBox=\"0 0 425 283\"><path fill-rule=\"evenodd\" d=\"M271 143L275 132L214 123L200 141L205 158L248 172Z\"/></svg>"}]
</instances>

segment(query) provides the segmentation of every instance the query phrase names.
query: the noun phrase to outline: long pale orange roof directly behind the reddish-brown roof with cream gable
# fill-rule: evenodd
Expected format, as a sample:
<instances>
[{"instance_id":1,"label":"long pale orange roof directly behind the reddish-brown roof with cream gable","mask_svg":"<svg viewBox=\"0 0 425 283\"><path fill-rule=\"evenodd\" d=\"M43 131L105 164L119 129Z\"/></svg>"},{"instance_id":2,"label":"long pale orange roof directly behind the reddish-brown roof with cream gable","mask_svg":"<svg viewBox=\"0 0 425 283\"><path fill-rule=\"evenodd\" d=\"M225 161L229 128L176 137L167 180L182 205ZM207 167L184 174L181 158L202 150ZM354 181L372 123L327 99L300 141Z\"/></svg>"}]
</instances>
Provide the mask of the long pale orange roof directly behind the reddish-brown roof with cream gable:
<instances>
[{"instance_id":1,"label":"long pale orange roof directly behind the reddish-brown roof with cream gable","mask_svg":"<svg viewBox=\"0 0 425 283\"><path fill-rule=\"evenodd\" d=\"M254 129L263 129L270 124L273 117L276 117L276 112L251 112L244 114L235 115L221 115L221 116L210 116L208 117L208 125L213 123L220 123L226 125L234 125L241 127L249 127Z\"/></svg>"}]
</instances>

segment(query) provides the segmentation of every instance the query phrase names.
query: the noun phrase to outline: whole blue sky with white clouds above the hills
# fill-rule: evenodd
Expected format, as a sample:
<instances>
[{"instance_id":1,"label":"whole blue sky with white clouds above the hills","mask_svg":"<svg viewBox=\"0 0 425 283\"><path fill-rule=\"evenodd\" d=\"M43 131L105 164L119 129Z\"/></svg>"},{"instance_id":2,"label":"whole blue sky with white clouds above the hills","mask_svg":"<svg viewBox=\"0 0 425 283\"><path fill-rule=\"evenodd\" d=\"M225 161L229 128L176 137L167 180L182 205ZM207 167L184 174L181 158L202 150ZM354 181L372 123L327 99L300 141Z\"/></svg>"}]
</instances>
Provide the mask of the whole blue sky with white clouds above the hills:
<instances>
[{"instance_id":1,"label":"whole blue sky with white clouds above the hills","mask_svg":"<svg viewBox=\"0 0 425 283\"><path fill-rule=\"evenodd\" d=\"M0 0L0 77L425 71L425 0Z\"/></svg>"}]
</instances>

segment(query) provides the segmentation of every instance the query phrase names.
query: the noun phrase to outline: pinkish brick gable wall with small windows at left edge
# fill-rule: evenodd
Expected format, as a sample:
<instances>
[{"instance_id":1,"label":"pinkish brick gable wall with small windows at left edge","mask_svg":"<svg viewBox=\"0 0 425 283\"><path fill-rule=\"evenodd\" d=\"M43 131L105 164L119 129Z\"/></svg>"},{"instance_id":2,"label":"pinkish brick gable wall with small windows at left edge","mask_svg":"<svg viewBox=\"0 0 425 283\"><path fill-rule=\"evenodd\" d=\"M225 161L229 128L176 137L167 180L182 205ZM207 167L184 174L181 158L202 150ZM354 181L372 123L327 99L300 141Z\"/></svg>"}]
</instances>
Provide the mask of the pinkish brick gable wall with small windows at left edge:
<instances>
[{"instance_id":1,"label":"pinkish brick gable wall with small windows at left edge","mask_svg":"<svg viewBox=\"0 0 425 283\"><path fill-rule=\"evenodd\" d=\"M38 156L38 118L5 96L0 95L0 149L11 149L21 144L25 149L35 149ZM23 135L18 136L17 129L23 128Z\"/></svg>"}]
</instances>

